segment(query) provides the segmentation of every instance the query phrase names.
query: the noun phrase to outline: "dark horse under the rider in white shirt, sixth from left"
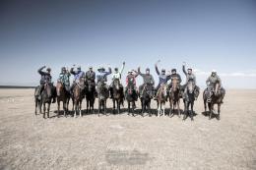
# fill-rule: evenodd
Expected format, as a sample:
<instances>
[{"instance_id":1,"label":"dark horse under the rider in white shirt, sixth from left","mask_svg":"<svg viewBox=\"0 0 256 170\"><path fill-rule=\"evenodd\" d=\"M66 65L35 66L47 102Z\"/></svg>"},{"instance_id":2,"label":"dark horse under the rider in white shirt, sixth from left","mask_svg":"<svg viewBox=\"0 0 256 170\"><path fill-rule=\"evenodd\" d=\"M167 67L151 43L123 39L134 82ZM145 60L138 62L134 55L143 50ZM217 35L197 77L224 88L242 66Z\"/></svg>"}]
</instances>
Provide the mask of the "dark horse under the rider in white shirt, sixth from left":
<instances>
[{"instance_id":1,"label":"dark horse under the rider in white shirt, sixth from left","mask_svg":"<svg viewBox=\"0 0 256 170\"><path fill-rule=\"evenodd\" d=\"M120 114L120 105L123 100L123 87L120 84L120 81L118 79L115 79L112 83L112 92L113 92L113 113L115 114L115 104L117 108L117 113Z\"/></svg>"}]
</instances>

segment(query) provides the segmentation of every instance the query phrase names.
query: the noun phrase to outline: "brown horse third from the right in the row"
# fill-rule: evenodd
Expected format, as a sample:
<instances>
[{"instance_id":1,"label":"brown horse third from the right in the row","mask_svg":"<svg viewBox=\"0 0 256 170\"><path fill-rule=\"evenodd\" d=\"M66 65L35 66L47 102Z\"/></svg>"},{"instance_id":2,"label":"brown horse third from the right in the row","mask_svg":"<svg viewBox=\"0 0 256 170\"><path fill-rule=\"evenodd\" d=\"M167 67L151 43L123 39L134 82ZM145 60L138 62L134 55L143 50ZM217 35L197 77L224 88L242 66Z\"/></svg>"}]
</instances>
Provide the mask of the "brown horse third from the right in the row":
<instances>
[{"instance_id":1,"label":"brown horse third from the right in the row","mask_svg":"<svg viewBox=\"0 0 256 170\"><path fill-rule=\"evenodd\" d=\"M171 88L169 89L169 116L174 114L174 109L177 107L178 109L178 117L180 117L180 107L179 107L179 99L180 99L180 88L179 88L179 80L172 79Z\"/></svg>"}]
</instances>

